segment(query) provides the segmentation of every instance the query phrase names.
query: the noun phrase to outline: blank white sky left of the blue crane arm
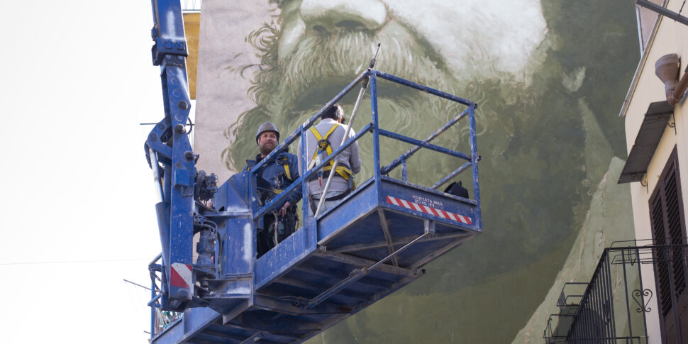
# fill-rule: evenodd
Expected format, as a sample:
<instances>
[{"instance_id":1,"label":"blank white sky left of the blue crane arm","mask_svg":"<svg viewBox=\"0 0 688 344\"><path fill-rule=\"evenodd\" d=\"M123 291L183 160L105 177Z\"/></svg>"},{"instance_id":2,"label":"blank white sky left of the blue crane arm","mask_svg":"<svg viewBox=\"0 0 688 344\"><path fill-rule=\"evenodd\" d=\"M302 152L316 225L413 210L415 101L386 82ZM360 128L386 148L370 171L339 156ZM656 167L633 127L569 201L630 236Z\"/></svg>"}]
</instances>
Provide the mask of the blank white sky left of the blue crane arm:
<instances>
[{"instance_id":1,"label":"blank white sky left of the blue crane arm","mask_svg":"<svg viewBox=\"0 0 688 344\"><path fill-rule=\"evenodd\" d=\"M0 343L147 343L150 1L0 6Z\"/></svg>"}]
</instances>

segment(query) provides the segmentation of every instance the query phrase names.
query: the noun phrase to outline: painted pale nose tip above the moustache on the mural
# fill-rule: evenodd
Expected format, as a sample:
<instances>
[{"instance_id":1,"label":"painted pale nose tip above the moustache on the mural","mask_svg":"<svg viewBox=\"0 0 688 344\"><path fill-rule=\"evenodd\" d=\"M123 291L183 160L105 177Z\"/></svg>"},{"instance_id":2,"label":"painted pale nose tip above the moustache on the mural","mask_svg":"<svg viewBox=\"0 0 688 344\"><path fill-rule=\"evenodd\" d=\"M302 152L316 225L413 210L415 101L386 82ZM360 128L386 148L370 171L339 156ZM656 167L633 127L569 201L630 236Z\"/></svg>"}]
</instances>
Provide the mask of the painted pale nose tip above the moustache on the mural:
<instances>
[{"instance_id":1,"label":"painted pale nose tip above the moustache on the mural","mask_svg":"<svg viewBox=\"0 0 688 344\"><path fill-rule=\"evenodd\" d=\"M377 30L387 21L387 9L377 0L304 0L301 18L306 30Z\"/></svg>"}]
</instances>

